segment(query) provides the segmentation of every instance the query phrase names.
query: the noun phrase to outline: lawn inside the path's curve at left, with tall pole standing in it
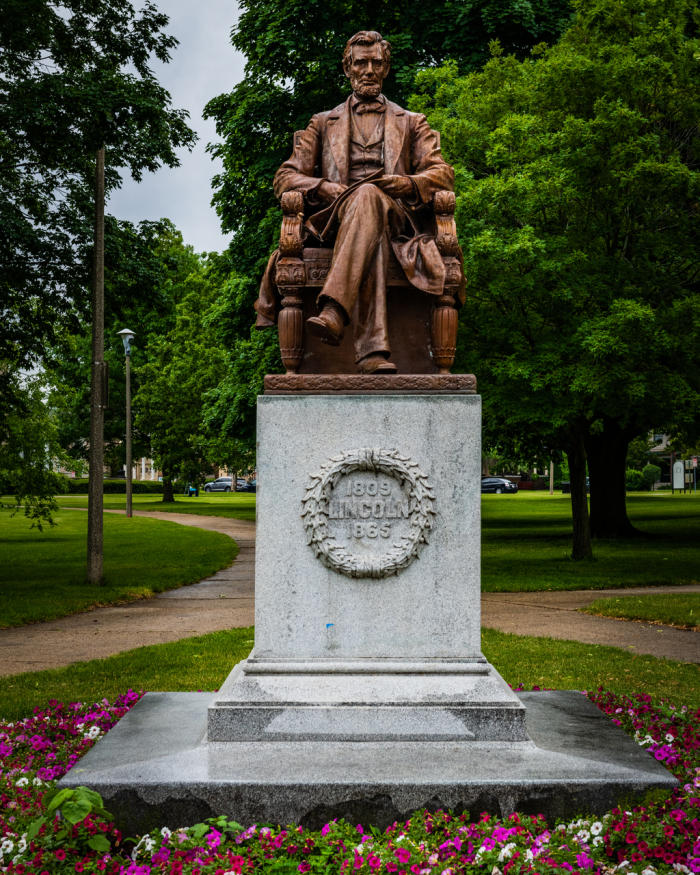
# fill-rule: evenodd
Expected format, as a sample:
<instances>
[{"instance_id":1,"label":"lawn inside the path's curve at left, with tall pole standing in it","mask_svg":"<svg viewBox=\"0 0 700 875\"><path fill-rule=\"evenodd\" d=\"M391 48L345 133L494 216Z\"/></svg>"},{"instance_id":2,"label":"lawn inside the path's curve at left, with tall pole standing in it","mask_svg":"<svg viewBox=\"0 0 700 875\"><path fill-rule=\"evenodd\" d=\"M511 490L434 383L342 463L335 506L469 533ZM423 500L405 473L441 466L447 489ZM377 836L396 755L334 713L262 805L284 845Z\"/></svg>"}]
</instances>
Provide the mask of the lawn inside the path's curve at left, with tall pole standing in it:
<instances>
[{"instance_id":1,"label":"lawn inside the path's curve at left, with tall pole standing in it","mask_svg":"<svg viewBox=\"0 0 700 875\"><path fill-rule=\"evenodd\" d=\"M238 552L218 532L105 514L104 584L95 587L85 579L87 514L61 510L55 519L55 526L39 532L21 512L0 509L0 627L194 583L229 565Z\"/></svg>"}]
</instances>

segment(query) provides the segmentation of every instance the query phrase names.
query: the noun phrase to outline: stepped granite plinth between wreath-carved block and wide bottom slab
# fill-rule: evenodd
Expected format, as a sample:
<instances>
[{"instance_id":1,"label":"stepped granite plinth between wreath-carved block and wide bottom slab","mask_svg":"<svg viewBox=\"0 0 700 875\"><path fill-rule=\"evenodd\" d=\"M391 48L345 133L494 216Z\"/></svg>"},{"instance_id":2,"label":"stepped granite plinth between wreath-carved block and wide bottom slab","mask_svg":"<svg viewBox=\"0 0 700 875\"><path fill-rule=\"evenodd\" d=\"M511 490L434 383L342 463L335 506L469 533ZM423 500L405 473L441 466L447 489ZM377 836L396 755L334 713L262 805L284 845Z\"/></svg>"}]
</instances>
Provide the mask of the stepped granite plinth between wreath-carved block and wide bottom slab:
<instances>
[{"instance_id":1,"label":"stepped granite plinth between wreath-carved block and wide bottom slab","mask_svg":"<svg viewBox=\"0 0 700 875\"><path fill-rule=\"evenodd\" d=\"M209 705L209 741L527 741L525 708L471 660L239 662Z\"/></svg>"}]
</instances>

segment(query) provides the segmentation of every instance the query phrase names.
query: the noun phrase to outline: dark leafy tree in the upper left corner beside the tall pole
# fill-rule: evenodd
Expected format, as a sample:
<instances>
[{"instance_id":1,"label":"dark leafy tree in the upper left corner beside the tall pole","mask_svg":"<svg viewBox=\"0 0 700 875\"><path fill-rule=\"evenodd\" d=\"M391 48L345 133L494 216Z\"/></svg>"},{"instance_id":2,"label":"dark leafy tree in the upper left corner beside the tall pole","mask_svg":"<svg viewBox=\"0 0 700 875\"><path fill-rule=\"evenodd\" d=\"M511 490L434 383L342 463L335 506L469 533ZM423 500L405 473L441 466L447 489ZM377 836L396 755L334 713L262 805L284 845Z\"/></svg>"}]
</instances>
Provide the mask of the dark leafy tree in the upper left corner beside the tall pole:
<instances>
[{"instance_id":1,"label":"dark leafy tree in the upper left corner beside the tall pole","mask_svg":"<svg viewBox=\"0 0 700 875\"><path fill-rule=\"evenodd\" d=\"M96 155L107 192L128 170L176 166L195 134L151 58L176 40L146 2L8 0L0 20L0 405L19 410L20 369L88 317ZM99 162L98 162L99 164ZM99 188L99 186L98 186ZM96 225L97 227L97 225ZM99 321L99 319L98 319ZM101 330L101 327L100 329ZM92 356L95 359L95 355Z\"/></svg>"}]
</instances>

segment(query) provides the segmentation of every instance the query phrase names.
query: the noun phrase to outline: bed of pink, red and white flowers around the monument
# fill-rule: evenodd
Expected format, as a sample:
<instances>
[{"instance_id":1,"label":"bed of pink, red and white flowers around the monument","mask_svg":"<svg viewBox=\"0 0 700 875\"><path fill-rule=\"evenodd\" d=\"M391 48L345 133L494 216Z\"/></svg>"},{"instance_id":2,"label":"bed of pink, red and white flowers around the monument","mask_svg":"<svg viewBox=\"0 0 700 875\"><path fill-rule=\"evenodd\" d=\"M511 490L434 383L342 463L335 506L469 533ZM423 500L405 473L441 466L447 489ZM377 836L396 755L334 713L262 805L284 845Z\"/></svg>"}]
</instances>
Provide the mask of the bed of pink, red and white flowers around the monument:
<instances>
[{"instance_id":1,"label":"bed of pink, red and white flowers around the monument","mask_svg":"<svg viewBox=\"0 0 700 875\"><path fill-rule=\"evenodd\" d=\"M589 698L664 763L682 786L644 806L600 818L548 823L541 815L420 811L386 830L348 824L323 829L241 825L226 817L163 826L134 846L89 790L56 791L55 781L140 698L52 702L16 723L0 723L0 872L12 875L348 875L586 872L667 875L700 872L700 711L648 696L599 690ZM59 813L60 811L60 813Z\"/></svg>"}]
</instances>

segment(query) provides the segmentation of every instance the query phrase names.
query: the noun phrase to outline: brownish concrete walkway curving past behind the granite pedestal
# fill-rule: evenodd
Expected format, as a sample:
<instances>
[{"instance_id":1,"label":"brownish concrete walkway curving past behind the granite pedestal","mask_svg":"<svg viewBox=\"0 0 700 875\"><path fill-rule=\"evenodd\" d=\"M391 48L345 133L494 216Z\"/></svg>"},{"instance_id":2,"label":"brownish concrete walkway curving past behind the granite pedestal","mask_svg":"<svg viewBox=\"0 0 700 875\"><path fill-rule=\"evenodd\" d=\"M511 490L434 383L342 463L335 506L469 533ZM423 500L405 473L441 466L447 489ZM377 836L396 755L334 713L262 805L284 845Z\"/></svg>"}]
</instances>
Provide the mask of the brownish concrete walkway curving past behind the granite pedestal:
<instances>
[{"instance_id":1,"label":"brownish concrete walkway curving past behind the granite pedestal","mask_svg":"<svg viewBox=\"0 0 700 875\"><path fill-rule=\"evenodd\" d=\"M255 523L196 514L135 511L223 532L240 548L233 564L190 586L152 599L96 608L60 620L0 630L0 675L58 668L192 635L254 622ZM512 632L607 644L632 653L700 663L700 633L581 614L578 608L608 596L700 592L700 585L576 592L484 593L482 624Z\"/></svg>"}]
</instances>

